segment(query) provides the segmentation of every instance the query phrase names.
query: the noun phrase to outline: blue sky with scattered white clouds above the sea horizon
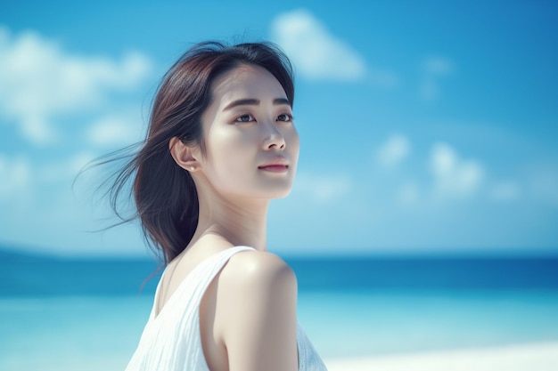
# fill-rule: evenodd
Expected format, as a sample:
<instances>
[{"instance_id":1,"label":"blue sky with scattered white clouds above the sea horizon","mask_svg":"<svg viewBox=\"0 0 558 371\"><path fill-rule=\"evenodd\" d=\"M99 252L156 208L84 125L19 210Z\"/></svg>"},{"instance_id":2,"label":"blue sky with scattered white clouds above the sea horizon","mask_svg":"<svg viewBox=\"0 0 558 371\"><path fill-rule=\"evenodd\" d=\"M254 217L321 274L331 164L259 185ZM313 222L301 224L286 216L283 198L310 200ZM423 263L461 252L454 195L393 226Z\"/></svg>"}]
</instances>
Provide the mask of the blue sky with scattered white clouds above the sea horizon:
<instances>
[{"instance_id":1,"label":"blue sky with scattered white clouds above the sea horizon","mask_svg":"<svg viewBox=\"0 0 558 371\"><path fill-rule=\"evenodd\" d=\"M118 4L112 4L118 3ZM143 255L92 196L194 42L270 39L296 69L297 181L280 254L558 253L552 1L4 2L0 245Z\"/></svg>"}]
</instances>

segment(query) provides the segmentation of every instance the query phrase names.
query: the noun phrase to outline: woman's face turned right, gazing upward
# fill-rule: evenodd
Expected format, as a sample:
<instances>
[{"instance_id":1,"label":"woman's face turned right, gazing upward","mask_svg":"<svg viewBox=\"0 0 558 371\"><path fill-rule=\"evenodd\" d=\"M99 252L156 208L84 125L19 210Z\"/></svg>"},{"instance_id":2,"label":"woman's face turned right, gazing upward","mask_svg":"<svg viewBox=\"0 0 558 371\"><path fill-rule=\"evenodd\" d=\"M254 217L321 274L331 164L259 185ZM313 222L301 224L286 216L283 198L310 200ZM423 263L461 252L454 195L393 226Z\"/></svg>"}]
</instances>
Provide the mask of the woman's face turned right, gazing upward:
<instances>
[{"instance_id":1,"label":"woman's face turned right, gazing upward","mask_svg":"<svg viewBox=\"0 0 558 371\"><path fill-rule=\"evenodd\" d=\"M267 69L241 65L217 77L203 113L199 161L222 195L282 198L291 191L299 134L283 87Z\"/></svg>"}]
</instances>

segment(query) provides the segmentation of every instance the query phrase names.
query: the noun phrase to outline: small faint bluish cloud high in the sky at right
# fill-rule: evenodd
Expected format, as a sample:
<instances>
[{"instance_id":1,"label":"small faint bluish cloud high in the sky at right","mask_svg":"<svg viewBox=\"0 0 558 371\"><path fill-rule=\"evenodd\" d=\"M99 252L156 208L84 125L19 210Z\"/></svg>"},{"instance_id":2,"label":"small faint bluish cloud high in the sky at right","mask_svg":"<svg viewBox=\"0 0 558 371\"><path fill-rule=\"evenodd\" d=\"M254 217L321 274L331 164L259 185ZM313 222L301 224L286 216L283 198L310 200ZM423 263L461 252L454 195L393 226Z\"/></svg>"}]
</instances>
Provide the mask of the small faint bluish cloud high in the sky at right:
<instances>
[{"instance_id":1,"label":"small faint bluish cloud high in the sky at right","mask_svg":"<svg viewBox=\"0 0 558 371\"><path fill-rule=\"evenodd\" d=\"M421 71L423 77L419 96L423 101L437 101L440 94L439 79L453 75L455 63L445 57L429 57L423 60Z\"/></svg>"}]
</instances>

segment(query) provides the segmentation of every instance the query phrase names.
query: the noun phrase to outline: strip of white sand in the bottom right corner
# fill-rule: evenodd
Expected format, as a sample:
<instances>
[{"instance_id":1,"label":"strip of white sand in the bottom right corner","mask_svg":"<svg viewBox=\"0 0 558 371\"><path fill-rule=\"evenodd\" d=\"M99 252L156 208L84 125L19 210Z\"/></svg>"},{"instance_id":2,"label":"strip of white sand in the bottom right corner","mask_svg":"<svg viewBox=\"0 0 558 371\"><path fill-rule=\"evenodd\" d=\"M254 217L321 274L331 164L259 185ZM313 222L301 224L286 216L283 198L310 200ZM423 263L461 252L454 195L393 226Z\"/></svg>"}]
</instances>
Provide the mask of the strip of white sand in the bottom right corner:
<instances>
[{"instance_id":1,"label":"strip of white sand in the bottom right corner","mask_svg":"<svg viewBox=\"0 0 558 371\"><path fill-rule=\"evenodd\" d=\"M558 343L332 359L329 371L555 371Z\"/></svg>"}]
</instances>

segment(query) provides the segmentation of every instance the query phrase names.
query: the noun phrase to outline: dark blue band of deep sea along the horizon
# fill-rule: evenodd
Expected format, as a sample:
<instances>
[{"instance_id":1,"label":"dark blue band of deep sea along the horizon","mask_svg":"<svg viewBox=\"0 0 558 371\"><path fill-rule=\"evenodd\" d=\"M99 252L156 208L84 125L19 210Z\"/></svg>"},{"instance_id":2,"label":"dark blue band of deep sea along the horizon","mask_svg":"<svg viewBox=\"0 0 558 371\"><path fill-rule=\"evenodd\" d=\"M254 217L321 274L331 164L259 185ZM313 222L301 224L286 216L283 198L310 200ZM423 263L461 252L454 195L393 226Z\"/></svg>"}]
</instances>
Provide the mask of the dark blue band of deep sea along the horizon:
<instances>
[{"instance_id":1,"label":"dark blue band of deep sea along the horizon","mask_svg":"<svg viewBox=\"0 0 558 371\"><path fill-rule=\"evenodd\" d=\"M551 290L554 257L284 257L301 291ZM154 292L163 265L149 259L76 259L0 248L0 296Z\"/></svg>"}]
</instances>

